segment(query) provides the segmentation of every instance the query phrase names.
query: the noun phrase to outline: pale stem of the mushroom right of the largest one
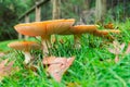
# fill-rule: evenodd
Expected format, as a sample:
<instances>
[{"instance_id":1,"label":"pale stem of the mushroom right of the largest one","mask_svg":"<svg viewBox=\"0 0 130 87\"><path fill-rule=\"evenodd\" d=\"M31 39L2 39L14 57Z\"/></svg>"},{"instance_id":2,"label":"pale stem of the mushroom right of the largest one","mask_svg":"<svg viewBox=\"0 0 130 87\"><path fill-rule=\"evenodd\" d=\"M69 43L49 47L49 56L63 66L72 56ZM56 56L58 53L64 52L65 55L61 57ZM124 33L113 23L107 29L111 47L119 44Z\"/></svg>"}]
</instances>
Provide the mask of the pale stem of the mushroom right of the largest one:
<instances>
[{"instance_id":1,"label":"pale stem of the mushroom right of the largest one","mask_svg":"<svg viewBox=\"0 0 130 87\"><path fill-rule=\"evenodd\" d=\"M81 34L74 35L74 47L76 49L80 49L81 48L80 38L81 38Z\"/></svg>"}]
</instances>

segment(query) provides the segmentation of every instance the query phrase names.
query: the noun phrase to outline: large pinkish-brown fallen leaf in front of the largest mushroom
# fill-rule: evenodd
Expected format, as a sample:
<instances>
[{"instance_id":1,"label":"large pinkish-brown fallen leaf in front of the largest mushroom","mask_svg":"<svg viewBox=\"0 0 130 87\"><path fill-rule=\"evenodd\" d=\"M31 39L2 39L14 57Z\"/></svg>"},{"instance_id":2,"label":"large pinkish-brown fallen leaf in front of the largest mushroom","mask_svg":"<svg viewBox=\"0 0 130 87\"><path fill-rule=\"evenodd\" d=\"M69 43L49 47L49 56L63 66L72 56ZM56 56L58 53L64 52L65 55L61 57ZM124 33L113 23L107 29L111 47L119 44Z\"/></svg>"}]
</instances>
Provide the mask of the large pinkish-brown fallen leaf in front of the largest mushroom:
<instances>
[{"instance_id":1,"label":"large pinkish-brown fallen leaf in front of the largest mushroom","mask_svg":"<svg viewBox=\"0 0 130 87\"><path fill-rule=\"evenodd\" d=\"M49 64L47 72L56 80L61 82L63 74L73 64L75 58L44 58L43 64Z\"/></svg>"}]
</instances>

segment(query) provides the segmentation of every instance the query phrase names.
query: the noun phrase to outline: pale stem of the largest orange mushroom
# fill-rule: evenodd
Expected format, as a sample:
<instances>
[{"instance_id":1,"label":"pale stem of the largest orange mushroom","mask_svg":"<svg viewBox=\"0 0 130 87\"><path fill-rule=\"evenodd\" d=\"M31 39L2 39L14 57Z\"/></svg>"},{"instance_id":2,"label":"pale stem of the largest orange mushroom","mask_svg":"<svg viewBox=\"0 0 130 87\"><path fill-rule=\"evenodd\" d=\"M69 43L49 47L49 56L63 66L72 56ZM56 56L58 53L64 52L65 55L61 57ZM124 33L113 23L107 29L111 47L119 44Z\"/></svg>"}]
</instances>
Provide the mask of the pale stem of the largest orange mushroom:
<instances>
[{"instance_id":1,"label":"pale stem of the largest orange mushroom","mask_svg":"<svg viewBox=\"0 0 130 87\"><path fill-rule=\"evenodd\" d=\"M49 54L49 48L51 48L51 36L42 36L41 37L41 44L42 44L42 51L44 57L48 57Z\"/></svg>"}]
</instances>

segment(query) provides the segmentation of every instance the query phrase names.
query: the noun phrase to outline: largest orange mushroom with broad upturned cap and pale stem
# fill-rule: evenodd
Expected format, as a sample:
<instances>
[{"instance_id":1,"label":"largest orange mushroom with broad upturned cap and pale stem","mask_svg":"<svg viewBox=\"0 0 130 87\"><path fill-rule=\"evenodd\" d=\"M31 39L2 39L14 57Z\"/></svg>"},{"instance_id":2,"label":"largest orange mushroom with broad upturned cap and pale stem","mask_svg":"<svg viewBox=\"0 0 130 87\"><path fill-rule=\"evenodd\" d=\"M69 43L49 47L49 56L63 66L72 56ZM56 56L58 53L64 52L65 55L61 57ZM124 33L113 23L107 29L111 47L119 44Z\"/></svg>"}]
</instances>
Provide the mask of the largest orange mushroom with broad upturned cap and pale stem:
<instances>
[{"instance_id":1,"label":"largest orange mushroom with broad upturned cap and pale stem","mask_svg":"<svg viewBox=\"0 0 130 87\"><path fill-rule=\"evenodd\" d=\"M74 18L52 20L52 21L17 24L14 26L14 28L16 29L16 32L23 35L41 36L43 54L47 57L49 54L48 48L51 47L51 40L50 40L51 35L60 34L68 30L74 23L75 23Z\"/></svg>"}]
</instances>

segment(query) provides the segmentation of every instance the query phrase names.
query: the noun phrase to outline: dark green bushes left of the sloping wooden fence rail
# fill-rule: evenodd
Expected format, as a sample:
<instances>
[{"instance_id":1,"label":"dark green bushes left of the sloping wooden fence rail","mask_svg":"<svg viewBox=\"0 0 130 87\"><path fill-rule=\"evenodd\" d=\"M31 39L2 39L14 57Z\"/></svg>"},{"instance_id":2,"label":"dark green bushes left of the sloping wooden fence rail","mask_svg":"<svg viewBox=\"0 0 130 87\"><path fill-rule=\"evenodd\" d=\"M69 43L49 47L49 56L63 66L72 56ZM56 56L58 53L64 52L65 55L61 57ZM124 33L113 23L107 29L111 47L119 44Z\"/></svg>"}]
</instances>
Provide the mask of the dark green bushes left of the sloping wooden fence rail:
<instances>
[{"instance_id":1,"label":"dark green bushes left of the sloping wooden fence rail","mask_svg":"<svg viewBox=\"0 0 130 87\"><path fill-rule=\"evenodd\" d=\"M0 0L0 40L17 38L13 26L18 23L18 16L34 4L34 0Z\"/></svg>"}]
</instances>

